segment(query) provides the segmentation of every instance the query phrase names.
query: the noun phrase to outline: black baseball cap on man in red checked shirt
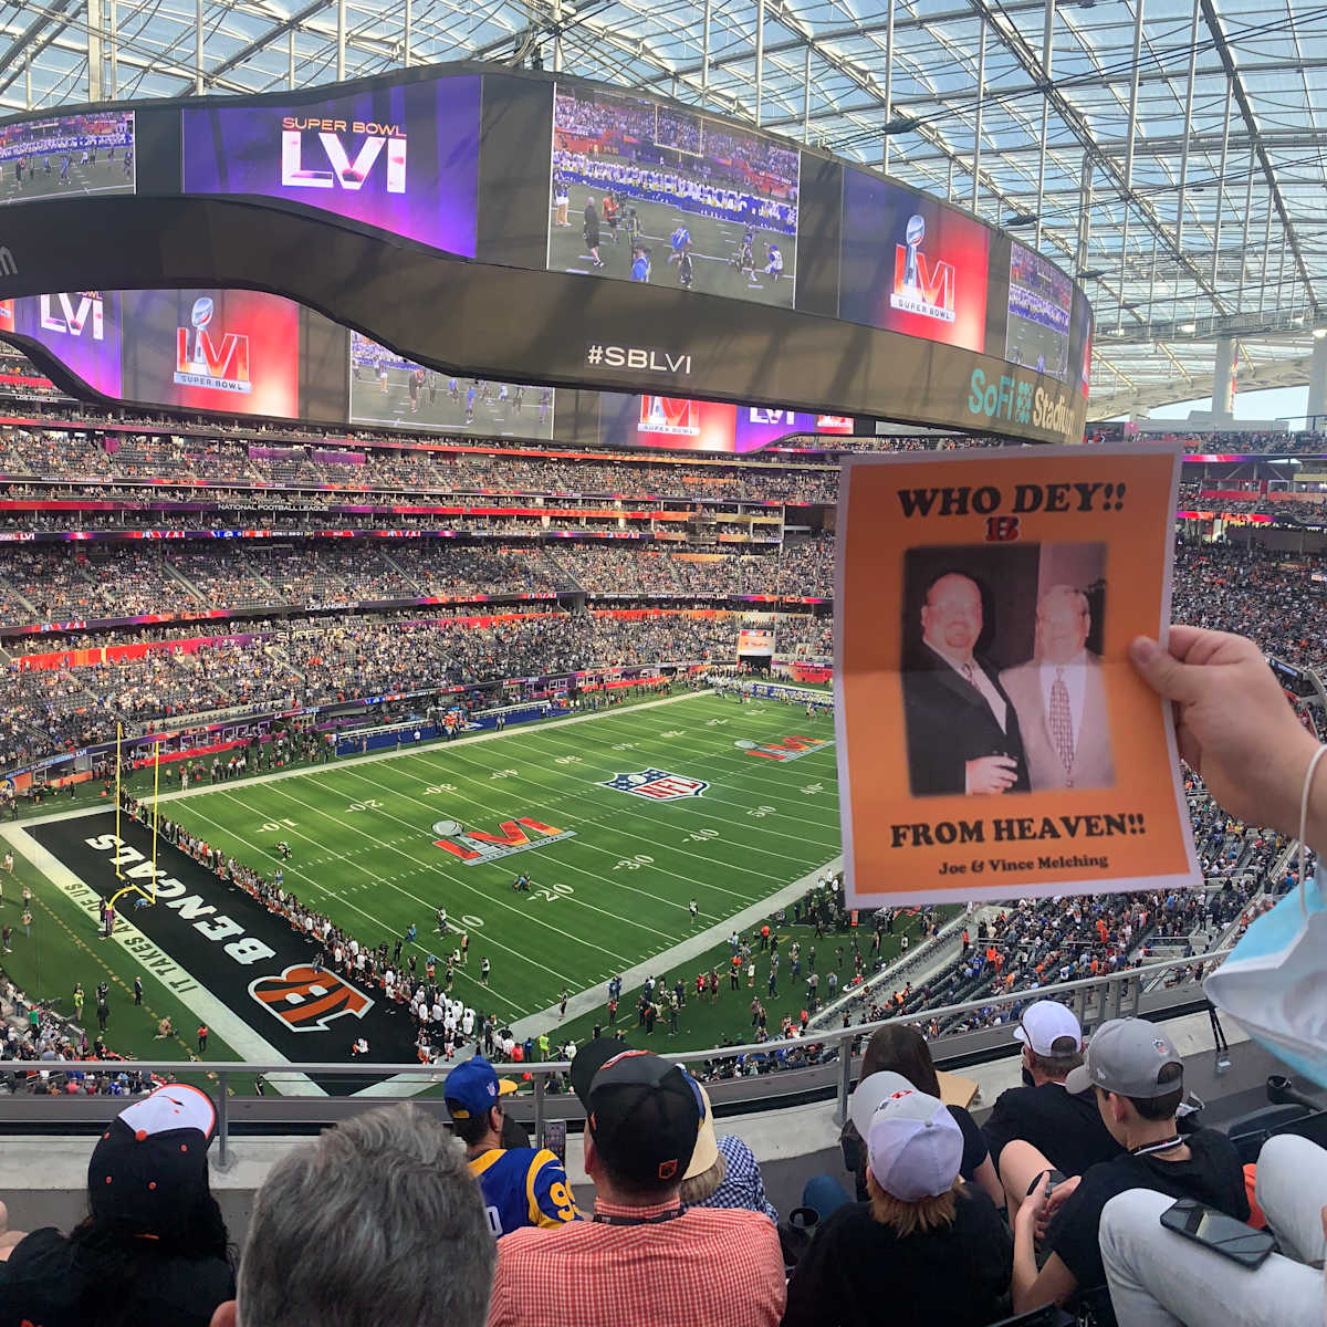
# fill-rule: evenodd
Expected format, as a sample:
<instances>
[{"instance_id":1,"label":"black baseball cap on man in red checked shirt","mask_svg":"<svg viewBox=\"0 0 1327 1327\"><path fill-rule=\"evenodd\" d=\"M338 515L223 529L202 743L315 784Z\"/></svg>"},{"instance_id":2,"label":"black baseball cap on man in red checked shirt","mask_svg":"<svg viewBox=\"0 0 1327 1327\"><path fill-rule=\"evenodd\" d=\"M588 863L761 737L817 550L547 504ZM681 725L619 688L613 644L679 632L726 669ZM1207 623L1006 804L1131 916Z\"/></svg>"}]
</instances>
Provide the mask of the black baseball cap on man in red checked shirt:
<instances>
[{"instance_id":1,"label":"black baseball cap on man in red checked shirt","mask_svg":"<svg viewBox=\"0 0 1327 1327\"><path fill-rule=\"evenodd\" d=\"M604 1038L572 1060L572 1089L591 1137L616 1176L640 1185L686 1174L701 1127L701 1099L677 1064Z\"/></svg>"}]
</instances>

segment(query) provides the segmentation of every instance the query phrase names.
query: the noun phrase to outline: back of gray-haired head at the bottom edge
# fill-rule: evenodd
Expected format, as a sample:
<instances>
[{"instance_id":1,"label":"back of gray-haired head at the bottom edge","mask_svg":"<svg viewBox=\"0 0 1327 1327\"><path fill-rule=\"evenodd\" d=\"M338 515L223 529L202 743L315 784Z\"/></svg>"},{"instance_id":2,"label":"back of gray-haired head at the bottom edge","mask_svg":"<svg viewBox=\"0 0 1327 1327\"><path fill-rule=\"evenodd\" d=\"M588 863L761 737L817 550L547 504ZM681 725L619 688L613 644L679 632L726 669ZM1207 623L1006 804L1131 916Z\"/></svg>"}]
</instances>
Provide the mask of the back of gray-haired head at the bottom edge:
<instances>
[{"instance_id":1,"label":"back of gray-haired head at the bottom edge","mask_svg":"<svg viewBox=\"0 0 1327 1327\"><path fill-rule=\"evenodd\" d=\"M494 1258L455 1139L385 1105L272 1168L211 1327L482 1327Z\"/></svg>"}]
</instances>

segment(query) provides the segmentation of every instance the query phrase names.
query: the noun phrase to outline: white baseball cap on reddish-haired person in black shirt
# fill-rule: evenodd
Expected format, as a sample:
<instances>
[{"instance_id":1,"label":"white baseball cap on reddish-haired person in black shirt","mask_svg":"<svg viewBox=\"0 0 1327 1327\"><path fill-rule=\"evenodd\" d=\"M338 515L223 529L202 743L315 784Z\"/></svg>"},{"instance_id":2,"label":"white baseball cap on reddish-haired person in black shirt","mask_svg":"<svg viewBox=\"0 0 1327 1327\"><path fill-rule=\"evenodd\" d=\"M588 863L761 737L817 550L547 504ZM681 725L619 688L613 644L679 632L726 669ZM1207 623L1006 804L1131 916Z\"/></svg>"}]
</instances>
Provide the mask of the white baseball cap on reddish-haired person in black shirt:
<instances>
[{"instance_id":1,"label":"white baseball cap on reddish-haired person in black shirt","mask_svg":"<svg viewBox=\"0 0 1327 1327\"><path fill-rule=\"evenodd\" d=\"M857 1084L848 1113L865 1140L876 1184L904 1202L949 1193L963 1160L963 1133L940 1097L892 1070Z\"/></svg>"}]
</instances>

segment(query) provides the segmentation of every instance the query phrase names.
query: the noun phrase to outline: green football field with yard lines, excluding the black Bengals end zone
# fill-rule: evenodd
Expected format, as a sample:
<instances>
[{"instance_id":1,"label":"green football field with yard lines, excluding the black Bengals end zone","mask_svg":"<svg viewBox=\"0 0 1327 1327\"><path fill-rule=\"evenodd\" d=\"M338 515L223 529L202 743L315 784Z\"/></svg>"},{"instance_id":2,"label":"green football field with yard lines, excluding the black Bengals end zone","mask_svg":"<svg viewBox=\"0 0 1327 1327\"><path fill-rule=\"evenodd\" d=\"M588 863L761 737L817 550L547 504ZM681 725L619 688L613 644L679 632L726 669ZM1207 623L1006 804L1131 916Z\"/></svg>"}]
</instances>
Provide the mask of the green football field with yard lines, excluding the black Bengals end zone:
<instances>
[{"instance_id":1,"label":"green football field with yard lines, excluding the black Bengals end zone","mask_svg":"<svg viewBox=\"0 0 1327 1327\"><path fill-rule=\"evenodd\" d=\"M507 1022L646 959L666 971L840 851L832 719L709 694L204 787L162 813L280 867L361 943L413 924L421 975L467 933L454 994Z\"/></svg>"}]
</instances>

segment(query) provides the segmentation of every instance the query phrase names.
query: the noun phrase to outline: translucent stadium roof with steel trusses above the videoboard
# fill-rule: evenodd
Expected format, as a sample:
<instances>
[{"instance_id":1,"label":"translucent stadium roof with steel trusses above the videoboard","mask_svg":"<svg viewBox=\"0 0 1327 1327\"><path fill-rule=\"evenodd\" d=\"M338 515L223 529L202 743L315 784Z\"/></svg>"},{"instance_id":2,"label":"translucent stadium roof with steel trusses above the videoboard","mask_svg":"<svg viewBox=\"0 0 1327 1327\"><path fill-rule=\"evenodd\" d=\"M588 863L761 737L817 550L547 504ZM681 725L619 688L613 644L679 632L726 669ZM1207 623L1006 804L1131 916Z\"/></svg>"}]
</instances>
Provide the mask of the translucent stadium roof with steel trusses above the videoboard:
<instances>
[{"instance_id":1,"label":"translucent stadium roof with steel trusses above the videoboard","mask_svg":"<svg viewBox=\"0 0 1327 1327\"><path fill-rule=\"evenodd\" d=\"M1327 5L1306 0L21 0L7 111L458 58L707 106L1009 227L1096 309L1093 417L1308 377Z\"/></svg>"}]
</instances>

